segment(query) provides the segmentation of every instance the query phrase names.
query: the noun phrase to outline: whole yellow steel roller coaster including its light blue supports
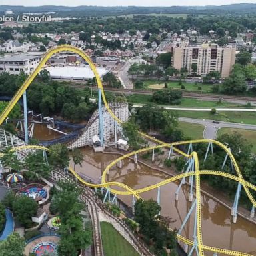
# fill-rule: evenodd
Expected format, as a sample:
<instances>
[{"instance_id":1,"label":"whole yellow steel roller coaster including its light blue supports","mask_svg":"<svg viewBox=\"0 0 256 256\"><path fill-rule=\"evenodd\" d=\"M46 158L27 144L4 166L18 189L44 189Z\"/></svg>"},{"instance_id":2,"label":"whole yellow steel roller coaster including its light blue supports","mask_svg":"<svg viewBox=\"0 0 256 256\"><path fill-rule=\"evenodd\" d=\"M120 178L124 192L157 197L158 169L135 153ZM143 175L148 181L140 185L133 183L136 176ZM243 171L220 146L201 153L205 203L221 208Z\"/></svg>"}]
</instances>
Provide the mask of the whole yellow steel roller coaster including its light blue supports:
<instances>
[{"instance_id":1,"label":"whole yellow steel roller coaster including its light blue supports","mask_svg":"<svg viewBox=\"0 0 256 256\"><path fill-rule=\"evenodd\" d=\"M59 47L55 47L53 49L50 49L45 54L45 57L43 57L43 59L41 60L41 62L37 66L37 68L33 71L33 73L31 73L31 75L29 75L27 80L23 83L23 86L19 89L19 91L17 91L17 93L13 97L13 99L11 99L11 101L9 101L9 105L6 107L6 109L3 111L3 113L1 113L0 124L3 123L3 121L5 121L5 119L9 115L11 109L13 109L13 107L15 106L17 101L19 101L21 96L23 96L25 124L27 123L27 117L25 114L25 113L27 113L26 90L29 87L29 85L32 83L33 79L35 79L35 77L37 76L37 74L39 73L39 71L41 70L43 65L45 65L46 61L52 55L54 55L55 53L59 53L61 51L71 51L71 52L77 53L78 55L83 57L83 59L85 59L85 61L91 67L91 69L96 77L98 91L99 91L99 99L98 99L99 141L97 141L97 139L95 139L95 142L97 141L98 144L99 143L101 144L100 145L101 147L104 147L103 107L101 104L101 99L103 99L103 103L105 105L105 107L104 107L105 111L107 111L107 113L111 116L111 118L115 122L115 129L117 127L116 125L121 125L121 123L123 123L123 121L126 118L120 119L119 117L117 117L117 115L115 115L115 113L114 113L115 111L113 111L113 109L111 109L110 105L107 103L107 100L105 98L105 93L103 90L103 85L101 83L101 78L99 77L99 74L97 73L95 65L93 64L91 59L89 59L89 57L81 49L78 49L77 47L73 47L71 45L61 45ZM27 128L27 126L25 125L25 143L27 144L28 134L27 134L26 128ZM187 213L187 216L183 220L181 228L177 232L177 239L179 241L182 241L183 243L185 243L185 245L187 245L188 255L193 255L193 253L196 253L196 255L203 256L203 255L205 255L205 251L211 251L213 253L213 255L217 255L217 253L220 253L220 254L224 254L224 255L249 256L250 254L248 254L248 253L231 251L231 250L221 249L221 248L217 248L217 247L211 247L211 246L203 244L203 234L202 234L202 230L201 230L201 184L200 184L200 176L201 175L219 175L219 176L226 177L228 179L233 179L234 181L237 181L237 183L238 183L237 193L235 195L235 200L234 200L232 211L231 211L231 215L233 216L234 223L236 223L236 221L237 221L237 207L238 207L239 197L240 197L242 188L245 190L245 193L247 194L247 196L249 197L249 199L253 205L252 209L251 209L251 218L253 218L255 215L256 201L253 198L253 196L251 195L251 192L249 189L256 191L256 186L243 179L243 175L242 175L242 173L239 169L239 166L237 165L237 162L236 162L235 158L233 157L230 149L228 149L225 145L223 145L219 141L215 141L212 139L197 139L197 140L191 140L191 141L179 141L179 142L175 142L175 143L165 143L165 142L155 139L155 137L153 138L145 133L139 132L139 134L141 136L145 137L146 139L154 141L155 143L159 143L159 145L154 145L152 147L139 149L137 151L127 153L126 155L123 155L123 156L119 157L118 159L115 159L115 161L110 163L105 168L103 175L101 177L100 184L92 184L92 183L88 183L87 181L84 181L77 173L75 173L75 171L71 167L69 167L69 171L79 181L81 181L81 183L83 183L84 185L87 185L88 187L93 187L95 189L96 188L107 189L107 193L105 194L104 201L107 199L107 195L110 195L110 193L112 193L114 195L113 201L115 200L117 195L131 195L133 198L133 205L135 203L135 199L141 199L141 195L140 195L141 193L143 193L145 191L150 191L152 189L157 189L157 202L160 204L161 186L180 179L181 183L180 183L180 185L176 191L176 194L175 194L175 200L178 200L179 199L179 190L181 189L181 186L185 183L185 179L188 177L189 183L190 183L189 201L191 201L192 204L191 204L191 209L189 210L189 212ZM236 171L237 175L231 175L229 173L223 172L222 170L221 171L200 170L199 169L199 159L198 159L197 153L195 151L193 151L193 143L208 143L204 161L207 161L207 156L209 155L209 153L211 153L211 154L214 153L213 152L213 144L221 147L223 149L223 151L225 151L225 153L226 153L226 157L223 161L222 169L225 166L225 164L227 163L227 161L230 159L231 165L232 165L233 169ZM189 145L189 150L187 151L187 153L179 150L176 147L177 145L186 145L186 144ZM79 146L81 147L81 145L77 145L77 147L79 147ZM75 145L73 145L73 147L75 147ZM179 155L183 155L183 157L186 157L187 163L186 163L185 167L187 169L185 170L185 172L183 172L179 175L176 175L175 177L171 177L169 179L161 181L157 184L151 185L149 187L144 187L142 189L137 189L137 190L134 190L131 187L129 187L123 183L112 182L112 181L108 182L106 180L107 173L109 172L111 167L113 167L114 165L118 165L119 163L121 163L121 161L123 159L133 156L134 161L136 163L137 155L139 153L143 153L146 151L153 151L153 154L154 154L155 149L159 149L161 147L169 148L168 158L171 157L171 154L173 153L173 151L175 151ZM34 145L22 145L20 147L13 147L13 151L23 150L23 149L42 149L43 151L49 151L49 149L47 149L47 147L34 146ZM112 188L113 186L120 187L122 190L113 189ZM195 187L195 189L194 189L194 187ZM194 199L194 190L195 190L195 199ZM195 219L194 219L194 233L193 233L193 241L192 241L186 237L183 237L181 235L181 231L183 231L183 228L185 227L185 224L187 223L189 218L192 216L193 211L195 211Z\"/></svg>"}]
</instances>

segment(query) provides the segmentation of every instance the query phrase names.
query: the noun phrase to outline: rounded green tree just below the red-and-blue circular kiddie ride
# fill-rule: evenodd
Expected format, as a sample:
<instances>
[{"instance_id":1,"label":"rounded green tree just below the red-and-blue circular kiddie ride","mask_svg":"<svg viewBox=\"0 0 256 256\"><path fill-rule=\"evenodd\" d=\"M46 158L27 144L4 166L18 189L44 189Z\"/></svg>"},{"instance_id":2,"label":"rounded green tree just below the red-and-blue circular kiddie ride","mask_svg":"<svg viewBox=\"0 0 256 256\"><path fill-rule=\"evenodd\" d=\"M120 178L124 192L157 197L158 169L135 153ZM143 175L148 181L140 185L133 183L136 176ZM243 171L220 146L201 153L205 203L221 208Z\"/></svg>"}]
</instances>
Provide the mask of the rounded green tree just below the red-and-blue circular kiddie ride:
<instances>
[{"instance_id":1,"label":"rounded green tree just below the red-and-blue circular kiddie ride","mask_svg":"<svg viewBox=\"0 0 256 256\"><path fill-rule=\"evenodd\" d=\"M31 217L37 213L37 202L30 197L19 196L13 201L13 214L22 225L32 222Z\"/></svg>"}]
</instances>

